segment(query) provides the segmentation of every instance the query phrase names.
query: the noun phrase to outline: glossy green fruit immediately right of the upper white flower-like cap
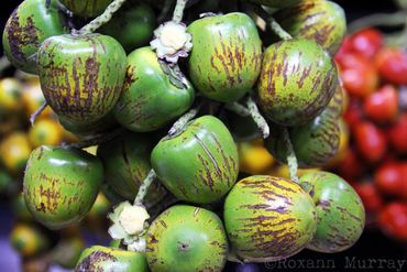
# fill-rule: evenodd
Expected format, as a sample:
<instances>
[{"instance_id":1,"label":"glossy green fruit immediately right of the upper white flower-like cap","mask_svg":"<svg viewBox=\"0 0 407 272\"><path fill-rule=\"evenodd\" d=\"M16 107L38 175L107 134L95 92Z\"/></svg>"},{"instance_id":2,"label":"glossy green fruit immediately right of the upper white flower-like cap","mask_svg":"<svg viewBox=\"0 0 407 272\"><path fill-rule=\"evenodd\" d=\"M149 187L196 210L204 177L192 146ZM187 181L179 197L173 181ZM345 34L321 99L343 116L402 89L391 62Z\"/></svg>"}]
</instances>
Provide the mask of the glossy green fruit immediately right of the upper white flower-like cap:
<instances>
[{"instance_id":1,"label":"glossy green fruit immediately right of the upper white flower-like cap","mask_svg":"<svg viewBox=\"0 0 407 272\"><path fill-rule=\"evenodd\" d=\"M262 41L244 13L229 13L194 21L189 76L206 97L230 102L242 98L255 84L262 63Z\"/></svg>"}]
</instances>

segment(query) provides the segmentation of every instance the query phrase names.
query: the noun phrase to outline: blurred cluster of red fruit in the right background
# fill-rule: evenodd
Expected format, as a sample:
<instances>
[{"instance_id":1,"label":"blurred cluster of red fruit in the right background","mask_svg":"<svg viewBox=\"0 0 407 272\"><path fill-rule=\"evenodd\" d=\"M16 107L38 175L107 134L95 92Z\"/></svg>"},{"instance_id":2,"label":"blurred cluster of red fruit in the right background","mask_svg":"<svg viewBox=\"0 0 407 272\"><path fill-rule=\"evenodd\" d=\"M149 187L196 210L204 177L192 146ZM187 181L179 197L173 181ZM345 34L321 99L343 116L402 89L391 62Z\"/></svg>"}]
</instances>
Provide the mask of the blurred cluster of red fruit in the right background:
<instances>
[{"instance_id":1,"label":"blurred cluster of red fruit in the right background","mask_svg":"<svg viewBox=\"0 0 407 272\"><path fill-rule=\"evenodd\" d=\"M386 235L407 240L407 52L374 29L348 36L336 56L349 94L351 143L337 172L351 181Z\"/></svg>"}]
</instances>

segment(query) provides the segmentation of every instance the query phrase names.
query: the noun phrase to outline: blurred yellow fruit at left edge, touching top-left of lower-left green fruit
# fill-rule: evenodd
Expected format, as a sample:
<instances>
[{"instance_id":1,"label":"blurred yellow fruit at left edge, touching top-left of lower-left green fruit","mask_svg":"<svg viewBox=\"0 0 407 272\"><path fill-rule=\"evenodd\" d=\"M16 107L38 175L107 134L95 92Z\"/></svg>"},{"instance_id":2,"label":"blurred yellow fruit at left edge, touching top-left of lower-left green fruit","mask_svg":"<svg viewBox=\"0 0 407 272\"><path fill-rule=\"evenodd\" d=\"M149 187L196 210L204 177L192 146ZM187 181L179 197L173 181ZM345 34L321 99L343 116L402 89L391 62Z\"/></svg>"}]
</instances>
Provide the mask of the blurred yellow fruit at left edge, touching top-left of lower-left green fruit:
<instances>
[{"instance_id":1,"label":"blurred yellow fruit at left edge, touching top-left of lower-left green fruit","mask_svg":"<svg viewBox=\"0 0 407 272\"><path fill-rule=\"evenodd\" d=\"M32 151L24 132L15 131L0 142L0 161L12 174L21 173Z\"/></svg>"}]
</instances>

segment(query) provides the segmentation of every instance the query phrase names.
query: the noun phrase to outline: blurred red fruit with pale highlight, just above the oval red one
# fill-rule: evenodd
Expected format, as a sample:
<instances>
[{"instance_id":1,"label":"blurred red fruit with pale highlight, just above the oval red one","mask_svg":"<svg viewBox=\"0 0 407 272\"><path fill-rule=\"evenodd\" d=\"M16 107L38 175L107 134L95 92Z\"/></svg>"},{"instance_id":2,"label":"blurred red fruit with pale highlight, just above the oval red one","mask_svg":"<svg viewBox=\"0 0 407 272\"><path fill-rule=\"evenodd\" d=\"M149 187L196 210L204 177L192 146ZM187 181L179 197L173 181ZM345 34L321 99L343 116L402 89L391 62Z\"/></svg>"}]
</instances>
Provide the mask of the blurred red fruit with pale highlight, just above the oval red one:
<instances>
[{"instance_id":1,"label":"blurred red fruit with pale highlight, just above the oval red one","mask_svg":"<svg viewBox=\"0 0 407 272\"><path fill-rule=\"evenodd\" d=\"M375 122L392 122L398 113L397 89L392 85L383 86L366 97L363 109L366 116Z\"/></svg>"}]
</instances>

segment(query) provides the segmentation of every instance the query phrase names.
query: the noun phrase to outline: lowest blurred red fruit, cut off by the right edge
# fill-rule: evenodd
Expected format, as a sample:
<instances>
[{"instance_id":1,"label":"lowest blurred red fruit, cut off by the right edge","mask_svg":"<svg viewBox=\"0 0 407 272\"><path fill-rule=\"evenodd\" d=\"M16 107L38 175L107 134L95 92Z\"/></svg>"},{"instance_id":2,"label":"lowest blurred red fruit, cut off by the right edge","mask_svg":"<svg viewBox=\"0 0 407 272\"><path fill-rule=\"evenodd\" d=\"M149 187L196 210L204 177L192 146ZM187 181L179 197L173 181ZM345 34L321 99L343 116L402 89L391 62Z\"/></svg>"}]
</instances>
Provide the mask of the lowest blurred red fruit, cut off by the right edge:
<instances>
[{"instance_id":1,"label":"lowest blurred red fruit, cut off by the right edge","mask_svg":"<svg viewBox=\"0 0 407 272\"><path fill-rule=\"evenodd\" d=\"M386 235L407 240L407 204L403 202L388 204L381 210L378 222Z\"/></svg>"}]
</instances>

